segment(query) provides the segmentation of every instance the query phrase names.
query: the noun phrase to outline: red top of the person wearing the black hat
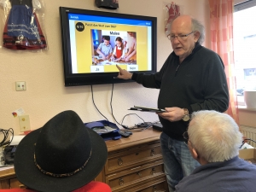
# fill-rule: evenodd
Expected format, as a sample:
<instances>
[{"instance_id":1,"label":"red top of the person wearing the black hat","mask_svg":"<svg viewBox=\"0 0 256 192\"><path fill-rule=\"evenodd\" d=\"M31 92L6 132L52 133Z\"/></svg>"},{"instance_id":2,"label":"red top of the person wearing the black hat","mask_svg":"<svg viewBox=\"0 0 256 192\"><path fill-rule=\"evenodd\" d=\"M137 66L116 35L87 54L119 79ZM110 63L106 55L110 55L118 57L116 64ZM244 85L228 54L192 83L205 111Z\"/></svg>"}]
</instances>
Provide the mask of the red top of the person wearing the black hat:
<instances>
[{"instance_id":1,"label":"red top of the person wearing the black hat","mask_svg":"<svg viewBox=\"0 0 256 192\"><path fill-rule=\"evenodd\" d=\"M0 192L37 192L32 189L0 189ZM106 183L92 181L84 187L73 190L73 192L111 192L111 188Z\"/></svg>"}]
</instances>

